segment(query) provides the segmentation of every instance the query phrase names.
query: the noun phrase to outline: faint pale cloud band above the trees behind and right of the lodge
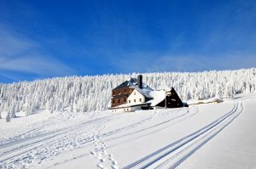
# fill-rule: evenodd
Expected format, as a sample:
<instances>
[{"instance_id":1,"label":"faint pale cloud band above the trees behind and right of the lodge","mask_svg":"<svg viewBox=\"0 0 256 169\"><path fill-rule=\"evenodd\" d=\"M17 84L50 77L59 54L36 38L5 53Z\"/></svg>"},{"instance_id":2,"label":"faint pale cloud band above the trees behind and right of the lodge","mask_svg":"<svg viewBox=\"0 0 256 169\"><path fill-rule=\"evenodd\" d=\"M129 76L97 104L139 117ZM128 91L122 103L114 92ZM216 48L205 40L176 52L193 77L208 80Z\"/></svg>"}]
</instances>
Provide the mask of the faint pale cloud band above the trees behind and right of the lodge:
<instances>
[{"instance_id":1,"label":"faint pale cloud band above the trees behind and right of the lodge","mask_svg":"<svg viewBox=\"0 0 256 169\"><path fill-rule=\"evenodd\" d=\"M218 54L218 56L210 57L192 54L139 53L111 60L112 65L120 72L233 70L255 67L256 65L255 55L242 53Z\"/></svg>"}]
</instances>

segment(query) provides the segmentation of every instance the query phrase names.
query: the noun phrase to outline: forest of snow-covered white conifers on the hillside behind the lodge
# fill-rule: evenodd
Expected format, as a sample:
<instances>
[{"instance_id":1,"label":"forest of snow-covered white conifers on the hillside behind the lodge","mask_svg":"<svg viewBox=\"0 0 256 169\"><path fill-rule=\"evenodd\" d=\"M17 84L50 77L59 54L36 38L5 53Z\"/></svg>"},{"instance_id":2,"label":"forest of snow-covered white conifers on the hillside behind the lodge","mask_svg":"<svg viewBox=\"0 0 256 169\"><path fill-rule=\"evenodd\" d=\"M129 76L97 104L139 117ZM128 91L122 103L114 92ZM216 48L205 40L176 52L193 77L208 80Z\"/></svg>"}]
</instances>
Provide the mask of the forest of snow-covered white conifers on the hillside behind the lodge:
<instances>
[{"instance_id":1,"label":"forest of snow-covered white conifers on the hillside behind the lodge","mask_svg":"<svg viewBox=\"0 0 256 169\"><path fill-rule=\"evenodd\" d=\"M69 76L34 82L0 84L0 116L15 117L38 110L87 112L107 110L111 89L137 74ZM143 74L154 89L174 87L183 100L231 98L256 92L256 69Z\"/></svg>"}]
</instances>

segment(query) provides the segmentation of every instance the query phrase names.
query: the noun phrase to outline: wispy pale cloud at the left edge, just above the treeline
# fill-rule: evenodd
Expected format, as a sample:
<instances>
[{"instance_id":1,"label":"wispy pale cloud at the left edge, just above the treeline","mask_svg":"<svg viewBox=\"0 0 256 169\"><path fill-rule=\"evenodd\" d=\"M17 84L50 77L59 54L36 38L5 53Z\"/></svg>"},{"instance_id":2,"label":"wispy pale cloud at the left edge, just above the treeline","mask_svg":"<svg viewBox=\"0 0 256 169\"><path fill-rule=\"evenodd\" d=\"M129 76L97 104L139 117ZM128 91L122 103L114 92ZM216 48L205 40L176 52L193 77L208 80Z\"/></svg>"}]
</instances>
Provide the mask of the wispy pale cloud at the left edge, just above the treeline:
<instances>
[{"instance_id":1,"label":"wispy pale cloud at the left edge, just above the treeline","mask_svg":"<svg viewBox=\"0 0 256 169\"><path fill-rule=\"evenodd\" d=\"M20 74L32 74L38 77L67 76L75 70L51 54L30 38L22 37L0 27L0 76L17 79ZM19 78L18 78L19 79Z\"/></svg>"}]
</instances>

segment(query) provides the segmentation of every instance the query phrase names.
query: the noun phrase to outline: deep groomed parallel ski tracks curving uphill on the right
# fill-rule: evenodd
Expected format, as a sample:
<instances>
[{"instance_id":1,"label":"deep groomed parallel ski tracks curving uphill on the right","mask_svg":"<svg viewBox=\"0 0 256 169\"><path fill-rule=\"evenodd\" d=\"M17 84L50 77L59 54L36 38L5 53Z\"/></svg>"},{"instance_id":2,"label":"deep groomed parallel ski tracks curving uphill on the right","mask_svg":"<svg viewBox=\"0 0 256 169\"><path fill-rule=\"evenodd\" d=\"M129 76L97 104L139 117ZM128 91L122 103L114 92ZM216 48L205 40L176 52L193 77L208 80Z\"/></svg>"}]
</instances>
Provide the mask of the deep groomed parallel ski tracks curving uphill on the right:
<instances>
[{"instance_id":1,"label":"deep groomed parallel ski tracks curving uphill on the right","mask_svg":"<svg viewBox=\"0 0 256 169\"><path fill-rule=\"evenodd\" d=\"M189 134L188 136L167 145L166 147L145 156L139 161L135 161L127 168L175 168L190 155L194 154L197 149L207 144L214 136L227 127L232 121L241 114L243 110L242 103L235 103L233 109L225 115L219 117L216 121L202 127L200 130Z\"/></svg>"}]
</instances>

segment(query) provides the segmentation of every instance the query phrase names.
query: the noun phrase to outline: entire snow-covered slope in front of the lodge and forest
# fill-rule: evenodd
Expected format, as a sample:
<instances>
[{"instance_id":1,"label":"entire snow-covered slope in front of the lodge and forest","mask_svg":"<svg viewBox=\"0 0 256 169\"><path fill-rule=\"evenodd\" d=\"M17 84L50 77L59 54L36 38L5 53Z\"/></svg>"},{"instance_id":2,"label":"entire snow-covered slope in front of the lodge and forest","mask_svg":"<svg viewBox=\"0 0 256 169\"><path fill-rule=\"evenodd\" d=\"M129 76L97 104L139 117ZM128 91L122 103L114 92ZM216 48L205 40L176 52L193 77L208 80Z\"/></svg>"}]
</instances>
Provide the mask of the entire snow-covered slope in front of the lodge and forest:
<instances>
[{"instance_id":1,"label":"entire snow-covered slope in front of the lodge and forest","mask_svg":"<svg viewBox=\"0 0 256 169\"><path fill-rule=\"evenodd\" d=\"M256 94L189 108L0 120L0 168L256 168Z\"/></svg>"}]
</instances>

